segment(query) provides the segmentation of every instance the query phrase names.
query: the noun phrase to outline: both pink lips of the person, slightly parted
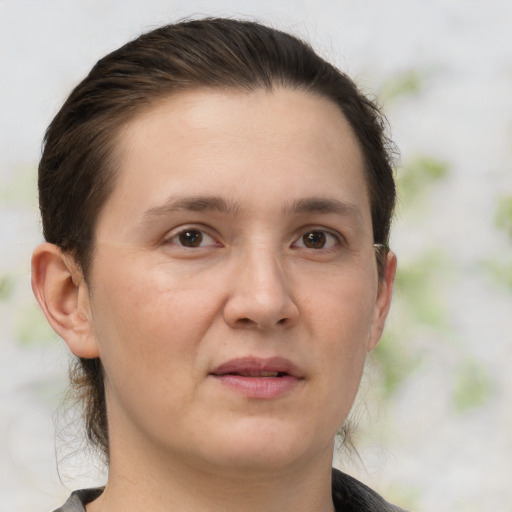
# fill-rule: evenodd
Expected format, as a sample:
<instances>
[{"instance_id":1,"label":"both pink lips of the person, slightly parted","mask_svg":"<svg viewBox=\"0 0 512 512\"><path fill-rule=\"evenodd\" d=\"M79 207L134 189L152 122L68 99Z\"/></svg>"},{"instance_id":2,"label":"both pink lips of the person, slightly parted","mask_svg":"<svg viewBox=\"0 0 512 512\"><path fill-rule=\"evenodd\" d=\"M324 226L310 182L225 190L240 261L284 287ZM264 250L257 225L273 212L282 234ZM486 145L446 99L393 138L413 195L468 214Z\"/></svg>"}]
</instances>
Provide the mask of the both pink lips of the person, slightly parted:
<instances>
[{"instance_id":1,"label":"both pink lips of the person, slightly parted","mask_svg":"<svg viewBox=\"0 0 512 512\"><path fill-rule=\"evenodd\" d=\"M215 368L210 376L230 392L257 399L287 395L304 380L299 368L282 357L232 359Z\"/></svg>"}]
</instances>

